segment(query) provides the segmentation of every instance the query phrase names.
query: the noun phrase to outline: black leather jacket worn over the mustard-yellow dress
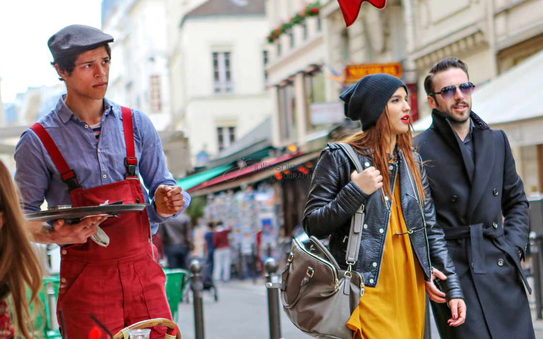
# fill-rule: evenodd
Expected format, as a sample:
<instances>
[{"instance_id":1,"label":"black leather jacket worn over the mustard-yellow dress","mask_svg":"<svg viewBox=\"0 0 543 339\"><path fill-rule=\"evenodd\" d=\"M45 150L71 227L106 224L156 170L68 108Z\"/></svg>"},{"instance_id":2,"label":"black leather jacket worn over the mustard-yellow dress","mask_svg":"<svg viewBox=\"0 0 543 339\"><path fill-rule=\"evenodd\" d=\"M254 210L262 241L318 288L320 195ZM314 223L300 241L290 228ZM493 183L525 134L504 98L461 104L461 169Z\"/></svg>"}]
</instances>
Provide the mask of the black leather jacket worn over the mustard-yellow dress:
<instances>
[{"instance_id":1,"label":"black leather jacket worn over the mustard-yellow dress","mask_svg":"<svg viewBox=\"0 0 543 339\"><path fill-rule=\"evenodd\" d=\"M458 276L454 273L454 264L449 256L443 231L435 222L435 209L426 171L423 167L422 184L426 191L426 199L424 205L421 205L405 157L399 150L397 155L397 162L389 164L391 190L394 192L395 178L399 173L403 218L407 228L415 231L409 234L409 239L424 271L425 279L430 279L431 271L435 267L447 276L443 281L437 279L441 290L446 293L447 301L452 298L464 298ZM420 162L418 153L413 152L413 156ZM370 156L358 154L358 158L364 169L371 166ZM355 165L338 145L328 144L321 152L315 167L303 224L309 235L320 239L330 235L330 253L342 268L346 268L345 251L348 242L346 238L349 236L351 217L363 204L365 220L358 261L354 269L364 276L367 286L375 287L381 272L390 212L382 200L380 191L368 195L351 181L351 173L355 170ZM390 206L392 202L387 200L386 203Z\"/></svg>"}]
</instances>

